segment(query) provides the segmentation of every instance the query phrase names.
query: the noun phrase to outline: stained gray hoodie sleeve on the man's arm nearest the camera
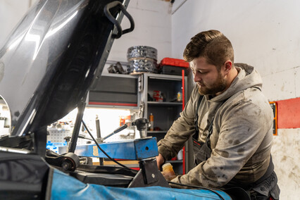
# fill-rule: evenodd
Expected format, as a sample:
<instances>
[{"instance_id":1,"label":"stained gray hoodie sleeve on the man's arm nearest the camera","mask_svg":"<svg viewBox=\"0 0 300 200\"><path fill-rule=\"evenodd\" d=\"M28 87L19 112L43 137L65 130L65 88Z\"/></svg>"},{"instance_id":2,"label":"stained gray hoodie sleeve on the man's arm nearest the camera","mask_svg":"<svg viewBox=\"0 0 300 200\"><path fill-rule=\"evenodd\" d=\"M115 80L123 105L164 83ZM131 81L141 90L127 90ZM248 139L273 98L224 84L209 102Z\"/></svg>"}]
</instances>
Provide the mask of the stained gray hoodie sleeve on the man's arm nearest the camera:
<instances>
[{"instance_id":1,"label":"stained gray hoodie sleeve on the man's arm nearest the camera","mask_svg":"<svg viewBox=\"0 0 300 200\"><path fill-rule=\"evenodd\" d=\"M179 175L172 182L204 187L226 185L256 153L265 135L270 134L272 111L269 108L268 102L263 99L254 102L242 98L240 101L230 102L229 106L220 111L222 118L218 118L214 123L211 158L197 165L186 175ZM220 130L216 130L218 125L215 124L220 125ZM265 157L261 159L263 163L270 154L268 152L261 156ZM254 163L247 165L249 170L256 168Z\"/></svg>"}]
</instances>

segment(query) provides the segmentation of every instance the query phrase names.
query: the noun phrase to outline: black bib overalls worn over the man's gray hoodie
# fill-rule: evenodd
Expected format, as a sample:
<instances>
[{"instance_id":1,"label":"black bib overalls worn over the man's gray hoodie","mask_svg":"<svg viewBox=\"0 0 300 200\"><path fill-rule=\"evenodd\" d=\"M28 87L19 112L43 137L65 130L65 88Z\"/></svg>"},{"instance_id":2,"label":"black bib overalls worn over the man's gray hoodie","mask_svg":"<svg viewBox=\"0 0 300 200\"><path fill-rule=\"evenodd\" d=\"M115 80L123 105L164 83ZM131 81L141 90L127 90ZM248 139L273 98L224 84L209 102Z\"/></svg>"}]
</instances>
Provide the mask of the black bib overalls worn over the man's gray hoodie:
<instances>
[{"instance_id":1,"label":"black bib overalls worn over the man's gray hoodie","mask_svg":"<svg viewBox=\"0 0 300 200\"><path fill-rule=\"evenodd\" d=\"M203 96L199 97L197 108L196 108L196 116L194 120L195 125L195 134L193 135L193 150L194 150L194 164L199 165L199 163L206 161L211 157L211 142L210 137L213 132L213 120L211 120L210 125L208 126L208 130L204 130L207 132L207 137L205 142L199 142L199 127L198 127L198 110ZM224 103L225 101L223 101ZM222 104L221 104L222 106ZM270 164L268 166L268 170L265 172L263 177L261 177L256 182L250 185L243 185L233 178L230 182L227 183L223 188L227 194L229 194L232 199L251 199L251 200L266 200L270 199L270 196L273 199L279 199L280 189L277 185L277 176L274 172L274 165L272 161L272 157L270 158Z\"/></svg>"}]
</instances>

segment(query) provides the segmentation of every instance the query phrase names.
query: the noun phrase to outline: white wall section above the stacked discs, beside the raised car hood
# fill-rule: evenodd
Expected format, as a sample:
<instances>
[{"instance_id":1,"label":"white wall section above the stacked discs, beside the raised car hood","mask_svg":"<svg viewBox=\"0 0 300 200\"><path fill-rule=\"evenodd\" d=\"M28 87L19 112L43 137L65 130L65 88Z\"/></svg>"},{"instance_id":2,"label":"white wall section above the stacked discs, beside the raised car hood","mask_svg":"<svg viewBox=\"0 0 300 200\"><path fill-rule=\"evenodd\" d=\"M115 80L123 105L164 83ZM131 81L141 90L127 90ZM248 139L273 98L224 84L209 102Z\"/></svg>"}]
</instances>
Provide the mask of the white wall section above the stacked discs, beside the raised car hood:
<instances>
[{"instance_id":1,"label":"white wall section above the stacked discs, beside the raised car hood","mask_svg":"<svg viewBox=\"0 0 300 200\"><path fill-rule=\"evenodd\" d=\"M108 60L127 62L130 46L152 46L158 50L158 63L171 56L171 15L169 3L158 0L131 0L127 11L135 20L135 30L115 39ZM123 19L123 29L130 27Z\"/></svg>"}]
</instances>

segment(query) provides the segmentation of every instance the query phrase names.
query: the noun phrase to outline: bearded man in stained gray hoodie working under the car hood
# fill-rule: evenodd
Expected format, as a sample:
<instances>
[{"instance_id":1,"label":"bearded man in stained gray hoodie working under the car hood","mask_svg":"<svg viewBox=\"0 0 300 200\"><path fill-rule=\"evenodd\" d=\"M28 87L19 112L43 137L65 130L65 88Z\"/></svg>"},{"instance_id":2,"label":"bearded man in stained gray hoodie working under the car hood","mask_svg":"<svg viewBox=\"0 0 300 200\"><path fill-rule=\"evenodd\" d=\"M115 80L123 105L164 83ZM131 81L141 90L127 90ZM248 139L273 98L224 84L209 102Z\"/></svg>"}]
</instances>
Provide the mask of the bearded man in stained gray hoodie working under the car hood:
<instances>
[{"instance_id":1,"label":"bearded man in stained gray hoodie working under the car hood","mask_svg":"<svg viewBox=\"0 0 300 200\"><path fill-rule=\"evenodd\" d=\"M270 156L273 111L261 92L261 76L249 65L234 64L232 44L217 30L192 37L183 56L196 85L180 118L158 142L158 168L194 135L196 166L172 182L242 187L251 198L278 199Z\"/></svg>"}]
</instances>

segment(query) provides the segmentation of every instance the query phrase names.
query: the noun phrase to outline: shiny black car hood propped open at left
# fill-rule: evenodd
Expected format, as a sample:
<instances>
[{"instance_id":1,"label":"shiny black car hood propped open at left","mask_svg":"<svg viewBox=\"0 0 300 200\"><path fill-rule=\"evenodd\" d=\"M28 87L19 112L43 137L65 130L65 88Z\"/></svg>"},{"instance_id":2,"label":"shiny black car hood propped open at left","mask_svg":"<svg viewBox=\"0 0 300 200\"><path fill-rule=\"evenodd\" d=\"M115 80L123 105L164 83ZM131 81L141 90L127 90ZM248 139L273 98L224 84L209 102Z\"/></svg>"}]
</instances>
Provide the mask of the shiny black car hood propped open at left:
<instances>
[{"instance_id":1,"label":"shiny black car hood propped open at left","mask_svg":"<svg viewBox=\"0 0 300 200\"><path fill-rule=\"evenodd\" d=\"M129 0L112 1L42 0L15 27L0 50L0 95L11 111L11 136L54 123L85 98L122 33Z\"/></svg>"}]
</instances>

